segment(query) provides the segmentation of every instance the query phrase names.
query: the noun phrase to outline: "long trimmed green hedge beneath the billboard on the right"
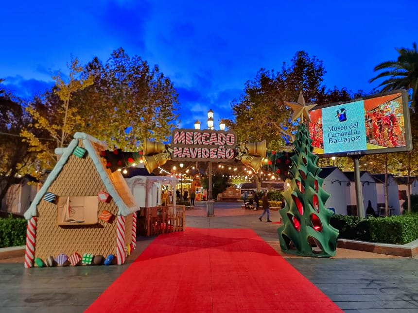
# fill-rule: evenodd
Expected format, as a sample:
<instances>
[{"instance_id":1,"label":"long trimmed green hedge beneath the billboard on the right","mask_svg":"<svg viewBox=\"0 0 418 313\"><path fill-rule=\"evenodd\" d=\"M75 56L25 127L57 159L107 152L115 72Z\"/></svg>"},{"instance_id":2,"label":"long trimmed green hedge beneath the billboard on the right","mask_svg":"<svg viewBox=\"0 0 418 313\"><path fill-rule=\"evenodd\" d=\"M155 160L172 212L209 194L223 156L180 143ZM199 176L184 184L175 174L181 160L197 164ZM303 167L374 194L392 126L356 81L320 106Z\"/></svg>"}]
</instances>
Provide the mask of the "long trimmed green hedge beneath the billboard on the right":
<instances>
[{"instance_id":1,"label":"long trimmed green hedge beneath the billboard on the right","mask_svg":"<svg viewBox=\"0 0 418 313\"><path fill-rule=\"evenodd\" d=\"M340 238L404 245L418 239L418 215L371 217L334 214L330 224Z\"/></svg>"}]
</instances>

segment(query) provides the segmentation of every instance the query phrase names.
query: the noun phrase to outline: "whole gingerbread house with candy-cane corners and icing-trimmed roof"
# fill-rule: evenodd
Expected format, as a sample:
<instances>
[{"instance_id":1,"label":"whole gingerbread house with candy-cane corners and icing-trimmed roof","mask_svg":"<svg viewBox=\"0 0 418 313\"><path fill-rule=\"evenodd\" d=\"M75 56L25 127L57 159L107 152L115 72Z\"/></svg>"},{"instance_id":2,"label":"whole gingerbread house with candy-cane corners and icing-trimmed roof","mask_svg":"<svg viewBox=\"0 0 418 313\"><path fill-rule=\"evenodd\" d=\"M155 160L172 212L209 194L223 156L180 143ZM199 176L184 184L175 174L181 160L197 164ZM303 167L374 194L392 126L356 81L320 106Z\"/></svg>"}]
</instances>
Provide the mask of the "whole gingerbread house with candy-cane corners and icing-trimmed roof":
<instances>
[{"instance_id":1,"label":"whole gingerbread house with candy-cane corners and icing-trimmed roof","mask_svg":"<svg viewBox=\"0 0 418 313\"><path fill-rule=\"evenodd\" d=\"M121 172L102 157L107 145L77 132L26 211L25 267L123 264L136 244L137 206ZM101 258L98 258L100 260ZM109 261L110 260L110 261Z\"/></svg>"}]
</instances>

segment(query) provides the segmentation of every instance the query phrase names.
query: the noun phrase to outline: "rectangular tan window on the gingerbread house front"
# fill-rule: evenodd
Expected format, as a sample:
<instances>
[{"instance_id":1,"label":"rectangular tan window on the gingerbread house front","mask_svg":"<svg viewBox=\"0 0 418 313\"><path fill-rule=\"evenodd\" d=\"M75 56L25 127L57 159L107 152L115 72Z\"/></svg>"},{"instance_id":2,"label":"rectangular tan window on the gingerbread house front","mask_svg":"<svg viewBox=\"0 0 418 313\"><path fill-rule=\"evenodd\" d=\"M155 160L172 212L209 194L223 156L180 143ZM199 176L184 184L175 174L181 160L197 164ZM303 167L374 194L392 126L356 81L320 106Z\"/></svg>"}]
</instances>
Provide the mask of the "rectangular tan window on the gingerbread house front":
<instances>
[{"instance_id":1,"label":"rectangular tan window on the gingerbread house front","mask_svg":"<svg viewBox=\"0 0 418 313\"><path fill-rule=\"evenodd\" d=\"M98 222L98 199L61 196L58 198L58 225L91 225Z\"/></svg>"}]
</instances>

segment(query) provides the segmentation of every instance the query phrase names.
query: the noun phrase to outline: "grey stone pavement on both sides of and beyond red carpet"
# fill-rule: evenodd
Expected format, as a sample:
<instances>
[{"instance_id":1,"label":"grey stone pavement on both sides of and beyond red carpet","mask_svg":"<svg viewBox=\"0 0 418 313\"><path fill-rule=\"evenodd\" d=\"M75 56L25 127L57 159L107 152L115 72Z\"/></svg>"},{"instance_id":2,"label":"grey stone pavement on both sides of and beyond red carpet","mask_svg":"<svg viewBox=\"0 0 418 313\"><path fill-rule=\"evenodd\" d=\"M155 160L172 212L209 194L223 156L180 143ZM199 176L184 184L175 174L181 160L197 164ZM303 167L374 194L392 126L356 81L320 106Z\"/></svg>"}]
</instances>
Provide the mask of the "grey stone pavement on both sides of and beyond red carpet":
<instances>
[{"instance_id":1,"label":"grey stone pavement on both sides of and beyond red carpet","mask_svg":"<svg viewBox=\"0 0 418 313\"><path fill-rule=\"evenodd\" d=\"M262 211L241 209L242 202L215 202L213 217L205 202L187 210L187 227L247 228L312 281L345 312L418 312L418 258L337 248L334 258L306 258L280 251L280 220L258 219ZM137 249L122 266L23 267L23 257L0 261L0 312L83 312L152 242L139 237ZM262 264L254 264L254 270ZM278 283L280 273L277 275ZM286 301L289 299L283 299ZM326 308L324 308L326 312Z\"/></svg>"}]
</instances>

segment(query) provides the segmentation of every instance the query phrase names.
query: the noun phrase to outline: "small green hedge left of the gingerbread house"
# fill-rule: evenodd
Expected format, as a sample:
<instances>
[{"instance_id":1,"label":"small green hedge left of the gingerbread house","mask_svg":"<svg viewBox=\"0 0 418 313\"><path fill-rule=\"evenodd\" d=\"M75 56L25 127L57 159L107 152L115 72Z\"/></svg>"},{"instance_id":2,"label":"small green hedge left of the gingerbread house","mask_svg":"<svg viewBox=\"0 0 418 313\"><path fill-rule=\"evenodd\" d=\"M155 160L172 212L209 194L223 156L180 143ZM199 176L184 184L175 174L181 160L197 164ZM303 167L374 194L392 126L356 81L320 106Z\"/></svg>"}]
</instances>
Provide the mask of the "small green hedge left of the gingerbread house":
<instances>
[{"instance_id":1,"label":"small green hedge left of the gingerbread house","mask_svg":"<svg viewBox=\"0 0 418 313\"><path fill-rule=\"evenodd\" d=\"M24 246L27 226L24 218L0 218L0 248Z\"/></svg>"}]
</instances>

